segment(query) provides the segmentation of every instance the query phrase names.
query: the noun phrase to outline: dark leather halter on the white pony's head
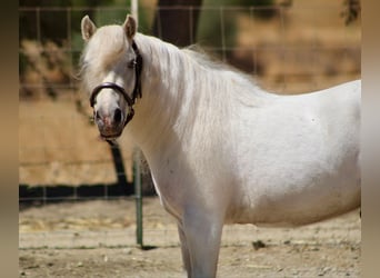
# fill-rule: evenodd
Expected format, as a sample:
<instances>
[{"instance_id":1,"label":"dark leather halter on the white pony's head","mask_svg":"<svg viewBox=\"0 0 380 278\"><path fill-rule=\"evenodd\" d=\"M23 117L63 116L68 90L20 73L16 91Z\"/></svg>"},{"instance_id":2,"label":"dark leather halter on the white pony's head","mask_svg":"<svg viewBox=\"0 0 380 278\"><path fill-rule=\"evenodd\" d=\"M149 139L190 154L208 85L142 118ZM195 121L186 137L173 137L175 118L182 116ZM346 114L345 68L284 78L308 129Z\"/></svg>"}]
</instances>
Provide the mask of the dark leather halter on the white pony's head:
<instances>
[{"instance_id":1,"label":"dark leather halter on the white pony's head","mask_svg":"<svg viewBox=\"0 0 380 278\"><path fill-rule=\"evenodd\" d=\"M133 105L136 103L136 100L138 98L142 97L141 93L141 70L142 70L142 57L140 54L140 51L136 44L134 41L132 41L132 49L134 51L136 54L136 59L133 60L132 64L134 67L134 88L132 91L132 97L130 97L127 91L124 90L124 88L122 88L121 86L113 83L113 82L103 82L100 83L99 86L97 86L96 88L93 88L91 96L90 96L90 105L93 108L94 103L96 103L96 98L98 96L98 93L102 90L102 89L113 89L117 92L119 92L121 96L123 96L123 98L126 99L128 107L129 107L129 112L127 115L127 119L124 121L124 126L127 126L127 123L132 120L133 116L134 116L134 110L133 110Z\"/></svg>"}]
</instances>

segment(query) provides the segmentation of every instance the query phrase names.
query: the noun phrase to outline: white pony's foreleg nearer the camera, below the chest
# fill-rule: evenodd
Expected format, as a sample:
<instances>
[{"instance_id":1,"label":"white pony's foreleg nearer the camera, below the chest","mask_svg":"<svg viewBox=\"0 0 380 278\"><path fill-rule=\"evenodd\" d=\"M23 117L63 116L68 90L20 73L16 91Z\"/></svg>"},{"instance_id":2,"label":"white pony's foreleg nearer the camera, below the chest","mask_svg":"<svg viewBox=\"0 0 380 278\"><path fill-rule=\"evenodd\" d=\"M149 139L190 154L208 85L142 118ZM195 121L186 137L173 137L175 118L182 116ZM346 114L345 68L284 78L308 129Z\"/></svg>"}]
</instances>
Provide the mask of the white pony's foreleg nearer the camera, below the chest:
<instances>
[{"instance_id":1,"label":"white pony's foreleg nearer the camera, below the chest","mask_svg":"<svg viewBox=\"0 0 380 278\"><path fill-rule=\"evenodd\" d=\"M191 264L188 277L216 277L222 234L222 220L219 218L199 207L186 210L182 227Z\"/></svg>"}]
</instances>

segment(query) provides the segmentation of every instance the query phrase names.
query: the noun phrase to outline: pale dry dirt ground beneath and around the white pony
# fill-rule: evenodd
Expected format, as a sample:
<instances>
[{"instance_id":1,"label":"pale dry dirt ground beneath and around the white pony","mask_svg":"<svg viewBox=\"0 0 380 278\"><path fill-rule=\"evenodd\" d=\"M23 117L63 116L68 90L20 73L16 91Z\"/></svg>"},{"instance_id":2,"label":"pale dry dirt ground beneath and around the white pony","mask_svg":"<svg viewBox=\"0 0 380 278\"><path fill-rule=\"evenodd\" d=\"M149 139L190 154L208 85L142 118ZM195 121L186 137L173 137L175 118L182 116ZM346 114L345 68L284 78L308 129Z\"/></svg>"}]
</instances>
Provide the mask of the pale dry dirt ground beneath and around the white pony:
<instances>
[{"instance_id":1,"label":"pale dry dirt ground beneath and around the white pony","mask_svg":"<svg viewBox=\"0 0 380 278\"><path fill-rule=\"evenodd\" d=\"M136 245L132 199L21 208L20 277L186 277L176 224L143 202ZM359 211L301 228L226 226L218 277L360 277Z\"/></svg>"}]
</instances>

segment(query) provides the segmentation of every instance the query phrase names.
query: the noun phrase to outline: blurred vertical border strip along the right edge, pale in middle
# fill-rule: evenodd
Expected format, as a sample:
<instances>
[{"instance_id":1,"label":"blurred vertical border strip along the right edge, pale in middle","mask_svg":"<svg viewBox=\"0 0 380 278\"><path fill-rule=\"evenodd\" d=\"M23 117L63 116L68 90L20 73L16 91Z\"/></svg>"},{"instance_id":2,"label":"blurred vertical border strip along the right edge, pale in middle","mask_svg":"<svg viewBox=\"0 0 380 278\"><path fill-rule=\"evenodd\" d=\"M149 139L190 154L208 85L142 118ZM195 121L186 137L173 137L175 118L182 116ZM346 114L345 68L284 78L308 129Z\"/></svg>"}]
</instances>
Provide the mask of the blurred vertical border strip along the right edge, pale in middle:
<instances>
[{"instance_id":1,"label":"blurred vertical border strip along the right edge, pale in middle","mask_svg":"<svg viewBox=\"0 0 380 278\"><path fill-rule=\"evenodd\" d=\"M362 271L380 272L380 2L361 1L362 18Z\"/></svg>"}]
</instances>

